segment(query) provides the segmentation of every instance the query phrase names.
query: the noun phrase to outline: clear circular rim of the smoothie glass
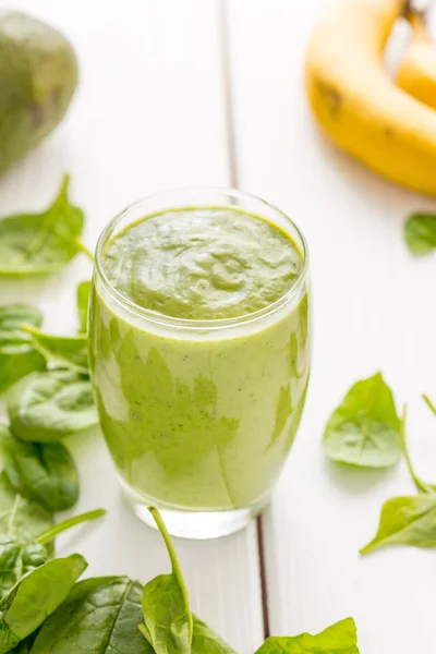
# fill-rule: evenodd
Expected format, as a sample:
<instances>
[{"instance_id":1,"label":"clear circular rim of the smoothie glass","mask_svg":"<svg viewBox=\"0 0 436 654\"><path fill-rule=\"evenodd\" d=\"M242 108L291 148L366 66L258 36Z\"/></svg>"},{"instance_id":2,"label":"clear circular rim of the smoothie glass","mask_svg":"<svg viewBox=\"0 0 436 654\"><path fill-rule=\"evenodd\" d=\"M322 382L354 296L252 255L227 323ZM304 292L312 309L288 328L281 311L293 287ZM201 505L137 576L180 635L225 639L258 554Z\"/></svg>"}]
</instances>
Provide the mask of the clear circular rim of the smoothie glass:
<instances>
[{"instance_id":1,"label":"clear circular rim of the smoothie glass","mask_svg":"<svg viewBox=\"0 0 436 654\"><path fill-rule=\"evenodd\" d=\"M259 308L259 310L249 313L249 314L242 314L241 316L233 316L231 318L215 318L215 319L204 318L201 320L197 320L197 319L195 320L195 319L191 319L191 318L177 318L173 316L166 316L164 314L160 314L157 311L153 311L150 308L144 308L143 306L140 306L138 304L135 304L134 302L132 302L132 300L129 300L129 298L123 295L109 281L108 277L104 270L104 267L102 267L101 254L102 254L102 249L104 249L106 242L110 238L113 230L117 228L117 225L119 225L119 222L121 222L121 220L129 213L138 208L141 205L145 204L146 202L148 202L150 199L158 199L159 197L165 197L165 196L168 196L171 194L175 195L175 194L181 194L181 193L195 193L195 192L197 192L197 193L207 193L207 192L221 193L226 196L230 196L233 198L250 199L252 202L261 203L261 205L266 206L269 209L272 209L277 214L280 214L280 216L282 218L284 218L289 225L292 226L292 228L295 230L295 232L301 241L301 254L303 257L303 265L301 267L301 270L299 272L295 283L286 293L283 293L283 295L281 295L278 300L275 300L267 306L264 306L263 308ZM185 206L191 206L191 205L186 204ZM203 206L206 206L206 204L203 203ZM218 205L216 205L216 206L218 206ZM222 206L226 206L226 205L222 205ZM229 205L229 206L231 206L231 205ZM182 203L181 203L180 207L183 208ZM201 203L198 204L198 207L202 207ZM170 209L171 207L168 207L168 208ZM165 209L162 209L162 211L164 210ZM150 211L150 213L153 213L153 211ZM147 214L145 213L144 217ZM262 217L262 213L259 213L259 217ZM298 245L300 245L300 244L298 244ZM145 318L147 320L152 320L152 322L158 323L160 325L179 327L179 328L183 328L183 329L207 329L207 330L222 329L226 327L234 327L237 325L258 320L269 314L275 313L282 306L291 303L294 298L299 296L299 294L301 292L301 288L305 283L305 280L308 275L308 247L307 247L307 242L306 242L306 239L305 239L303 232L295 225L295 222L291 218L289 218L289 216L287 214L284 214L281 209L276 207L274 204L266 202L262 197L258 197L257 195L247 193L245 191L240 191L238 189L228 187L228 186L184 186L184 187L182 186L179 189L168 189L166 191L159 191L158 193L153 193L152 195L142 197L141 199L137 199L136 202L126 206L122 211L120 211L111 220L109 220L109 222L107 223L107 226L100 233L98 241L97 241L96 254L95 254L95 271L96 271L99 280L102 282L105 290L121 306L123 306L130 313L133 313L136 317Z\"/></svg>"}]
</instances>

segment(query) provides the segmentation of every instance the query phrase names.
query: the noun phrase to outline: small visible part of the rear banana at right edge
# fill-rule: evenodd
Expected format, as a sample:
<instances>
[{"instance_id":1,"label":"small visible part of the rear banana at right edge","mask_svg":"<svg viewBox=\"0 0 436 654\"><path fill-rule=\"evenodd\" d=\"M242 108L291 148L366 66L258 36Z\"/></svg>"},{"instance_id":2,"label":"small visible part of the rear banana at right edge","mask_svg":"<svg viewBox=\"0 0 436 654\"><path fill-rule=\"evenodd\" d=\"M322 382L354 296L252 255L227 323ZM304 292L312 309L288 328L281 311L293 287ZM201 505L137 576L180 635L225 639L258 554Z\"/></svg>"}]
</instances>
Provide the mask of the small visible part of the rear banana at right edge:
<instances>
[{"instance_id":1,"label":"small visible part of the rear banana at right edge","mask_svg":"<svg viewBox=\"0 0 436 654\"><path fill-rule=\"evenodd\" d=\"M436 45L432 43L423 15L408 16L412 26L412 41L398 71L397 83L408 94L436 108Z\"/></svg>"}]
</instances>

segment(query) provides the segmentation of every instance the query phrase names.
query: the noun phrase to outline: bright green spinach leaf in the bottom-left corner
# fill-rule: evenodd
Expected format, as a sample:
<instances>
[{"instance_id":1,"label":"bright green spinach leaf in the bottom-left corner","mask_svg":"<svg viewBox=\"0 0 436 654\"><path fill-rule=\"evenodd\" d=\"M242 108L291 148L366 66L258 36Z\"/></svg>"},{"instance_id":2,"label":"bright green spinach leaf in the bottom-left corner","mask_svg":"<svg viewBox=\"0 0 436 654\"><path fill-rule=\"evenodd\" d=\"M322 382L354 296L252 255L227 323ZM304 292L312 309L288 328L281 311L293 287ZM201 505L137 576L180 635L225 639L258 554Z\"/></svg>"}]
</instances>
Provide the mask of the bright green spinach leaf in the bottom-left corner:
<instances>
[{"instance_id":1,"label":"bright green spinach leaf in the bottom-left corner","mask_svg":"<svg viewBox=\"0 0 436 654\"><path fill-rule=\"evenodd\" d=\"M47 561L28 572L0 601L0 654L43 625L69 596L86 569L78 554Z\"/></svg>"}]
</instances>

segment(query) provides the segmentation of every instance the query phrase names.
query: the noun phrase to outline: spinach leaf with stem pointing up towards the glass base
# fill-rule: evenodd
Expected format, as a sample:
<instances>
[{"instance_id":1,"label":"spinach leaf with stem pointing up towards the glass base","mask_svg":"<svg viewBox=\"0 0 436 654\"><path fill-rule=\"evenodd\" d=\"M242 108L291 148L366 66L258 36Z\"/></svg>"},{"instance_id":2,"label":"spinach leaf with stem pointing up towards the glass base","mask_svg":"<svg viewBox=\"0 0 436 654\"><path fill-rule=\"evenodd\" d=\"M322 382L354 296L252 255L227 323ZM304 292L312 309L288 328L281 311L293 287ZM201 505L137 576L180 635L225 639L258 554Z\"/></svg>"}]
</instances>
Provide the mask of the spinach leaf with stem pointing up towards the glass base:
<instances>
[{"instance_id":1,"label":"spinach leaf with stem pointing up towards the glass base","mask_svg":"<svg viewBox=\"0 0 436 654\"><path fill-rule=\"evenodd\" d=\"M187 590L174 546L160 513L149 509L162 535L172 565L171 574L160 574L147 583L143 592L143 634L156 654L191 654L193 618Z\"/></svg>"}]
</instances>

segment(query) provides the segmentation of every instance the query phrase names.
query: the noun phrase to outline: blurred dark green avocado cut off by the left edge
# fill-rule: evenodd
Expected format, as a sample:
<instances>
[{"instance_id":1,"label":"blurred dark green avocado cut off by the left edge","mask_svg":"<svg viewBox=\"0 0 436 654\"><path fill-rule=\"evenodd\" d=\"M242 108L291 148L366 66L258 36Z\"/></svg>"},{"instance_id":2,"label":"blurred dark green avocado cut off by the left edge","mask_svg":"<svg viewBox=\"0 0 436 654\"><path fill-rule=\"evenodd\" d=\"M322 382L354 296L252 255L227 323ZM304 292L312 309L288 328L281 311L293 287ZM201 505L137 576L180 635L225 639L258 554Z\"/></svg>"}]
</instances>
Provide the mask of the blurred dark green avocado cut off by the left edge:
<instances>
[{"instance_id":1,"label":"blurred dark green avocado cut off by the left edge","mask_svg":"<svg viewBox=\"0 0 436 654\"><path fill-rule=\"evenodd\" d=\"M77 77L60 32L22 12L0 13L0 174L60 123Z\"/></svg>"}]
</instances>

